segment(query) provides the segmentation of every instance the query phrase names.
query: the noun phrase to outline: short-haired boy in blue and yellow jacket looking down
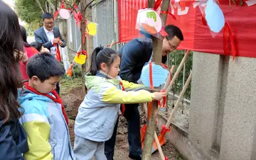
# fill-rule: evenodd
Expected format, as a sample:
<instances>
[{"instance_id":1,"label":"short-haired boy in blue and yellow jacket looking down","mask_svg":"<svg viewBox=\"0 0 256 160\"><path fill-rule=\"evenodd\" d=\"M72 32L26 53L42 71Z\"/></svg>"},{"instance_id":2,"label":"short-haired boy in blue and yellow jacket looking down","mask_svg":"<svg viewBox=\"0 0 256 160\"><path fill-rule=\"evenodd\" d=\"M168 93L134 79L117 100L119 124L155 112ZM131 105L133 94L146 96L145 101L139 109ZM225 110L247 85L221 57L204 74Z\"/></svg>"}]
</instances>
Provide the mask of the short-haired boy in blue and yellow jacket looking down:
<instances>
[{"instance_id":1,"label":"short-haired boy in blue and yellow jacket looking down","mask_svg":"<svg viewBox=\"0 0 256 160\"><path fill-rule=\"evenodd\" d=\"M20 118L28 135L29 159L75 159L68 132L68 118L55 88L65 70L48 52L33 55L26 71L29 81L19 90Z\"/></svg>"}]
</instances>

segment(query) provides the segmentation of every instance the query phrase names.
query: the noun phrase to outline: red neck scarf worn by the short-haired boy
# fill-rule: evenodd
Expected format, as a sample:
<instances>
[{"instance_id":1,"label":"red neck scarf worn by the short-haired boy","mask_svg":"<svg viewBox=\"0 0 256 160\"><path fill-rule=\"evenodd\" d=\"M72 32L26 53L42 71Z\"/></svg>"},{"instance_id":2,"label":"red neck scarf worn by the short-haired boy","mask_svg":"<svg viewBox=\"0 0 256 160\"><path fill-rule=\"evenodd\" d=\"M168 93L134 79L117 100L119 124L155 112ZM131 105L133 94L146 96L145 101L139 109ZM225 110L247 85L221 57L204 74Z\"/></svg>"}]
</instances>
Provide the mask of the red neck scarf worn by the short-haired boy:
<instances>
[{"instance_id":1,"label":"red neck scarf worn by the short-haired boy","mask_svg":"<svg viewBox=\"0 0 256 160\"><path fill-rule=\"evenodd\" d=\"M65 121L67 122L67 125L68 125L68 116L67 116L67 113L65 113L65 108L64 108L64 105L63 105L63 101L61 100L60 96L58 96L58 93L55 90L52 91L51 93L56 98L54 98L53 96L50 96L48 94L45 94L45 93L39 93L38 91L36 91L35 88L33 88L31 86L28 86L28 82L25 82L24 84L25 84L25 88L28 89L29 91L32 91L33 93L36 93L37 95L46 96L46 97L50 98L51 100L53 100L53 102L55 102L55 103L60 103L61 110L63 111Z\"/></svg>"}]
</instances>

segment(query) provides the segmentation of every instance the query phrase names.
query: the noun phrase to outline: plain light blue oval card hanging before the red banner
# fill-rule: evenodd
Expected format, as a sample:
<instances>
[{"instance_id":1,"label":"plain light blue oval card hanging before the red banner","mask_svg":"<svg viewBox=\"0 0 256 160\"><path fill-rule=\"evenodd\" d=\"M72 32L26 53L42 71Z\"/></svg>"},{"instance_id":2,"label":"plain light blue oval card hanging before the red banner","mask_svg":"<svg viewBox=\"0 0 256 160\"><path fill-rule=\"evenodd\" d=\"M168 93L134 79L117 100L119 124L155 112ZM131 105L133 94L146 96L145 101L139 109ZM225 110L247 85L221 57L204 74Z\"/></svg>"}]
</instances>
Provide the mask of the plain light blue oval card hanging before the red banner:
<instances>
[{"instance_id":1,"label":"plain light blue oval card hanging before the red banner","mask_svg":"<svg viewBox=\"0 0 256 160\"><path fill-rule=\"evenodd\" d=\"M211 31L219 33L224 27L225 18L218 4L213 0L208 0L205 8L206 21Z\"/></svg>"}]
</instances>

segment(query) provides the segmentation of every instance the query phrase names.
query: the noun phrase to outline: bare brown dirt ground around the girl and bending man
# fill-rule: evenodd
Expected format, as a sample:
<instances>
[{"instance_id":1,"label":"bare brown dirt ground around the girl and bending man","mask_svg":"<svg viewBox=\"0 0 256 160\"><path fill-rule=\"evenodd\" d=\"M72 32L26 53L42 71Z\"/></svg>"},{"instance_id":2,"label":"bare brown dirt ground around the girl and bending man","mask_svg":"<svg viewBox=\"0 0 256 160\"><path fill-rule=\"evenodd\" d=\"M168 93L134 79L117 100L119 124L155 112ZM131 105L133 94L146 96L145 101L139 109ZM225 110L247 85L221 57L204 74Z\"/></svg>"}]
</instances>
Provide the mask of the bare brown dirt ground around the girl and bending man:
<instances>
[{"instance_id":1,"label":"bare brown dirt ground around the girl and bending man","mask_svg":"<svg viewBox=\"0 0 256 160\"><path fill-rule=\"evenodd\" d=\"M69 120L69 130L70 130L70 139L73 145L75 135L74 135L74 122L75 116L78 114L78 107L80 103L82 103L82 86L80 83L80 79L63 79L60 85L61 98L63 99L63 103L65 103L68 107L65 108ZM139 108L141 113L141 126L146 123L146 118L144 117L144 113L142 109ZM162 150L165 156L168 156L169 160L182 160L180 154L172 147L170 142L167 140L166 144L162 146ZM127 121L124 117L119 116L119 125L117 129L117 140L114 149L114 159L115 160L129 160L129 144L127 140ZM159 152L155 152L151 156L152 160L161 159L159 156Z\"/></svg>"}]
</instances>

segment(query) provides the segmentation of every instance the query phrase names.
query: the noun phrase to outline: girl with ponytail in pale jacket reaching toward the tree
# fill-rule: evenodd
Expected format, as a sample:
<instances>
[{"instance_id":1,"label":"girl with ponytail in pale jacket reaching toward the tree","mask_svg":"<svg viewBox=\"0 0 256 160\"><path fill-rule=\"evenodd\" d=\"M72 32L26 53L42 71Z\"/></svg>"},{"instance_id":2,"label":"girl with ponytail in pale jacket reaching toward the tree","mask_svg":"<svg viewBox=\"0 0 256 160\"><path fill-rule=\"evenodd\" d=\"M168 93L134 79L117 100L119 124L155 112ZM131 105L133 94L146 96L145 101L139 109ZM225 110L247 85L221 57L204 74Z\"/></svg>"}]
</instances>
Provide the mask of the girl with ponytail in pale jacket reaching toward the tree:
<instances>
[{"instance_id":1,"label":"girl with ponytail in pale jacket reaching toward the tree","mask_svg":"<svg viewBox=\"0 0 256 160\"><path fill-rule=\"evenodd\" d=\"M142 87L119 78L120 57L111 48L97 47L92 52L85 86L89 89L78 109L75 119L74 153L78 160L107 159L104 143L112 136L119 115L120 103L160 101L165 93L149 91L125 91ZM124 112L122 105L122 112Z\"/></svg>"}]
</instances>

